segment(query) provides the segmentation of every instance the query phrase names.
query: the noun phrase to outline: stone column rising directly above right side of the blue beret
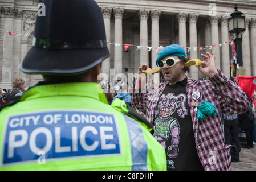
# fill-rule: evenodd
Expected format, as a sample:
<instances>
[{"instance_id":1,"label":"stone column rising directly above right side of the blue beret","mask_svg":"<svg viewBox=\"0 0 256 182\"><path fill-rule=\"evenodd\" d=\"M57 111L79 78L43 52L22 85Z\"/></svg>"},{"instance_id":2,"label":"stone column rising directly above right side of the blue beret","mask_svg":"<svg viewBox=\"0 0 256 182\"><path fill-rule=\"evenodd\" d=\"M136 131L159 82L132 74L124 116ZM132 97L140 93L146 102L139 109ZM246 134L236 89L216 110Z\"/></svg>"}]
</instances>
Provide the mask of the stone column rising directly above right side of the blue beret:
<instances>
[{"instance_id":1,"label":"stone column rising directly above right side of the blue beret","mask_svg":"<svg viewBox=\"0 0 256 182\"><path fill-rule=\"evenodd\" d=\"M186 49L186 17L188 14L178 13L178 44Z\"/></svg>"}]
</instances>

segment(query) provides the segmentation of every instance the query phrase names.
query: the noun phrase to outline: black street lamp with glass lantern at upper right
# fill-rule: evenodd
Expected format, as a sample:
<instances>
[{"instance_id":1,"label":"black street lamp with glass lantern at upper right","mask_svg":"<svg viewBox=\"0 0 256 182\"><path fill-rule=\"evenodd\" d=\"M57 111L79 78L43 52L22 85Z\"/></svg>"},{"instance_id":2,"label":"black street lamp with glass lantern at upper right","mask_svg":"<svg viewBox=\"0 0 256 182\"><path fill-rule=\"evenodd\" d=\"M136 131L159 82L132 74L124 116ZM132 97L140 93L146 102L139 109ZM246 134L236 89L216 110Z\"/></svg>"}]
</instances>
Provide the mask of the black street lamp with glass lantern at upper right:
<instances>
[{"instance_id":1,"label":"black street lamp with glass lantern at upper right","mask_svg":"<svg viewBox=\"0 0 256 182\"><path fill-rule=\"evenodd\" d=\"M229 18L229 33L233 36L235 34L235 51L237 52L237 63L239 66L243 66L242 59L242 34L245 32L245 16L242 16L242 12L237 10L235 5L235 11L230 14Z\"/></svg>"}]
</instances>

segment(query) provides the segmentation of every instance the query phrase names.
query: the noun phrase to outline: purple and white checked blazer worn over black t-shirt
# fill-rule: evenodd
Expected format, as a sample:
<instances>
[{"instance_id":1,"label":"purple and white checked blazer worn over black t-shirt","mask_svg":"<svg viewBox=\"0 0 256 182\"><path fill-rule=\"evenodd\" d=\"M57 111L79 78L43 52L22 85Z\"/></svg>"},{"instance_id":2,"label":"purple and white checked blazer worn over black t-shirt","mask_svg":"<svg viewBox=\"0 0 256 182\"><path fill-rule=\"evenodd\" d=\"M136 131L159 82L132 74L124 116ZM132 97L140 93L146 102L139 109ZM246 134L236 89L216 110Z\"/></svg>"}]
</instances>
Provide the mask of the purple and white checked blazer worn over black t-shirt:
<instances>
[{"instance_id":1,"label":"purple and white checked blazer worn over black t-shirt","mask_svg":"<svg viewBox=\"0 0 256 182\"><path fill-rule=\"evenodd\" d=\"M136 93L134 90L131 93L133 107L140 111L146 110L147 119L152 123L155 119L157 102L167 84L168 82L161 83L149 93ZM193 80L188 77L186 91L197 153L202 166L206 171L231 170L230 146L224 141L221 113L245 113L249 109L249 100L245 92L221 71L209 80ZM200 92L200 98L194 100L192 93L196 91ZM216 108L216 116L206 115L204 120L197 119L198 106L203 101L213 104Z\"/></svg>"}]
</instances>

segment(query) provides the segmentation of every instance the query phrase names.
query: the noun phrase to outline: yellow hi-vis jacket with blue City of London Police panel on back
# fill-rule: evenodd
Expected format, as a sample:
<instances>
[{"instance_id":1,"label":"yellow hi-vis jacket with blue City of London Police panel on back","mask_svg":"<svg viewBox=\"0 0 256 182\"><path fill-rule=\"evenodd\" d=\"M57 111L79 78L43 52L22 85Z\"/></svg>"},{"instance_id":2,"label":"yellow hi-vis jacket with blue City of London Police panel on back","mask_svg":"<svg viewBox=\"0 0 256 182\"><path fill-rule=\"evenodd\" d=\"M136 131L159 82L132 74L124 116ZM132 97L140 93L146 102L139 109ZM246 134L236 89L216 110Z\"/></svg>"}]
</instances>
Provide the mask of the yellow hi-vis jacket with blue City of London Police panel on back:
<instances>
[{"instance_id":1,"label":"yellow hi-vis jacket with blue City of London Police panel on back","mask_svg":"<svg viewBox=\"0 0 256 182\"><path fill-rule=\"evenodd\" d=\"M38 85L0 111L0 170L166 170L164 148L96 83Z\"/></svg>"}]
</instances>

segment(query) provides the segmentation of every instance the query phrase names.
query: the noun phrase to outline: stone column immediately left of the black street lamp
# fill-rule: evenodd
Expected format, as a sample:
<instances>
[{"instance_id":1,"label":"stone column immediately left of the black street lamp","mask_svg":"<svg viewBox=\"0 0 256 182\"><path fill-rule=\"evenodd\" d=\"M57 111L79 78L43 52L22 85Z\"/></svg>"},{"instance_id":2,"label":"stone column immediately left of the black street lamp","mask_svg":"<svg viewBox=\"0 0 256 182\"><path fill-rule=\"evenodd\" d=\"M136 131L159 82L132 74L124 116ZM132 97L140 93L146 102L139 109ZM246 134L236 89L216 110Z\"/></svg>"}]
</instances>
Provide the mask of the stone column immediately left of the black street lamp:
<instances>
[{"instance_id":1,"label":"stone column immediately left of the black street lamp","mask_svg":"<svg viewBox=\"0 0 256 182\"><path fill-rule=\"evenodd\" d=\"M221 50L222 50L222 63L221 71L222 73L230 78L230 56L229 56L229 28L227 16L221 16ZM226 44L224 44L227 42Z\"/></svg>"}]
</instances>

